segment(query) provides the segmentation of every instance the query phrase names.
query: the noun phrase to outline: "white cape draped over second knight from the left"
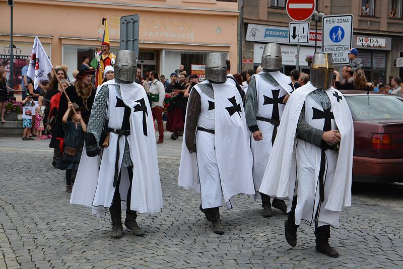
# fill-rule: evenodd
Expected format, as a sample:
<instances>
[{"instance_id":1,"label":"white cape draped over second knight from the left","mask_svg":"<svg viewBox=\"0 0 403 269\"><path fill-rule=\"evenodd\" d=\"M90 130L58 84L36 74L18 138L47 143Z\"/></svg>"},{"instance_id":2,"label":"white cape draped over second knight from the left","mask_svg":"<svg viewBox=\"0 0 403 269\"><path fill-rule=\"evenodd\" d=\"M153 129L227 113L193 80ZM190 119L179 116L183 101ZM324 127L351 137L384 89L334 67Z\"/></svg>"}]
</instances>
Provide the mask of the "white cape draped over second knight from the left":
<instances>
[{"instance_id":1,"label":"white cape draped over second knight from the left","mask_svg":"<svg viewBox=\"0 0 403 269\"><path fill-rule=\"evenodd\" d=\"M209 81L206 80L201 83L209 83ZM227 201L238 193L255 193L252 179L252 153L248 146L249 132L247 131L245 112L238 90L229 81L212 85L215 102L214 124L217 165L224 200ZM236 103L240 104L242 111L239 114L235 112L229 116L226 107L232 106L228 100L231 97L235 97ZM200 192L196 153L189 153L185 144L185 137L183 137L182 143L178 185L184 188L193 188Z\"/></svg>"}]
</instances>

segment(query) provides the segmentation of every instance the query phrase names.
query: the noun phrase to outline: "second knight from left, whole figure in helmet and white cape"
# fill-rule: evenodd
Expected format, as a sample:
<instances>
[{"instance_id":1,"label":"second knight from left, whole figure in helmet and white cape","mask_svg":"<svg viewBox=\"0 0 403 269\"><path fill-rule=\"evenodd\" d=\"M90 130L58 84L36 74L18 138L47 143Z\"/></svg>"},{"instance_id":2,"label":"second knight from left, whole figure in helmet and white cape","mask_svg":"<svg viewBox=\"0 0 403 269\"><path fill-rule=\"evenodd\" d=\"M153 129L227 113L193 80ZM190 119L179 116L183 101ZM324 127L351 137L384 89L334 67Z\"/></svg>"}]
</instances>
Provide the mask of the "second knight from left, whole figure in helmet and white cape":
<instances>
[{"instance_id":1,"label":"second knight from left, whole figure in helmet and white cape","mask_svg":"<svg viewBox=\"0 0 403 269\"><path fill-rule=\"evenodd\" d=\"M231 209L234 195L254 194L242 99L227 82L226 72L225 55L210 53L207 80L195 85L189 96L179 167L179 186L201 193L200 210L217 234L224 233L222 195Z\"/></svg>"}]
</instances>

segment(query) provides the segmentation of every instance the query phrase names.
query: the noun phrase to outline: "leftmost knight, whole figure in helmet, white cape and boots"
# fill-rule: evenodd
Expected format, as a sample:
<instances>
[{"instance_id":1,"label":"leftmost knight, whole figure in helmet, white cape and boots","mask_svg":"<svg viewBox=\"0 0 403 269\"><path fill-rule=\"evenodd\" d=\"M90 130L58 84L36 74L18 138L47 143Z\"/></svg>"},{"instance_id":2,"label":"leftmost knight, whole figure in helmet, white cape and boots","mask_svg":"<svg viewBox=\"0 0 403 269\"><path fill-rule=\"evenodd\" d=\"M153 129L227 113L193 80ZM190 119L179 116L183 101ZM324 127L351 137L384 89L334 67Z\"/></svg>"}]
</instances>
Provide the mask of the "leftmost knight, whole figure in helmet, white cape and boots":
<instances>
[{"instance_id":1,"label":"leftmost knight, whole figure in helmet, white cape and boots","mask_svg":"<svg viewBox=\"0 0 403 269\"><path fill-rule=\"evenodd\" d=\"M140 236L137 212L160 212L162 192L150 104L134 82L134 52L119 51L114 68L115 79L95 98L70 203L92 207L99 217L109 209L111 236L120 238L121 210L124 225Z\"/></svg>"}]
</instances>

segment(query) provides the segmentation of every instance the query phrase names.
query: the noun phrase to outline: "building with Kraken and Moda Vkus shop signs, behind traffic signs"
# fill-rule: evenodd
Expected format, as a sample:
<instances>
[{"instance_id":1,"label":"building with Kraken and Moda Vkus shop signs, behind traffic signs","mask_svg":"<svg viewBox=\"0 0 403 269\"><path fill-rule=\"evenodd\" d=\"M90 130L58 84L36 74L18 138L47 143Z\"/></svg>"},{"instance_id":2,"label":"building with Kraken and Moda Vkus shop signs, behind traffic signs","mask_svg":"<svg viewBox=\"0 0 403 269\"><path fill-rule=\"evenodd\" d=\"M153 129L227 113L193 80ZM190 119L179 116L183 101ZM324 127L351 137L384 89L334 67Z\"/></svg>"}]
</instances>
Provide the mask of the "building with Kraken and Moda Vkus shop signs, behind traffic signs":
<instances>
[{"instance_id":1,"label":"building with Kraken and Moda Vkus shop signs, behind traffic signs","mask_svg":"<svg viewBox=\"0 0 403 269\"><path fill-rule=\"evenodd\" d=\"M315 51L321 51L321 23L315 34L315 23L311 22L309 43L288 44L288 17L286 0L249 0L242 7L242 70L256 68L260 64L265 43L282 44L283 72L289 74L295 69L299 57L300 71L309 73L305 58ZM368 7L366 5L368 4ZM389 83L393 76L402 76L402 69L396 68L396 58L403 56L403 0L316 0L318 12L325 15L353 14L353 47L363 59L368 81ZM391 14L396 10L395 15ZM258 11L258 12L256 12Z\"/></svg>"}]
</instances>

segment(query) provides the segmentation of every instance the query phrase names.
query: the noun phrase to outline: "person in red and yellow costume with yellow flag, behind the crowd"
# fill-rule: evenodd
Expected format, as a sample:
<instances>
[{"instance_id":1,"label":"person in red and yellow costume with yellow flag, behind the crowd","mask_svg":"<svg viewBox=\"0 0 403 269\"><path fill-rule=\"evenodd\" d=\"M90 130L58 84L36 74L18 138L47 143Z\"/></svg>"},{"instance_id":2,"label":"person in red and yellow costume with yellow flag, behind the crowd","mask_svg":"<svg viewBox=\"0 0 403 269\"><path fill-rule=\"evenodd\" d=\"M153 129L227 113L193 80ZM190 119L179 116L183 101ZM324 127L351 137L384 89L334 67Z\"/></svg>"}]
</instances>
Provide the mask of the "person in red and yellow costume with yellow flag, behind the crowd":
<instances>
[{"instance_id":1,"label":"person in red and yellow costume with yellow flag, behind the crowd","mask_svg":"<svg viewBox=\"0 0 403 269\"><path fill-rule=\"evenodd\" d=\"M109 52L110 42L109 42L109 31L108 31L108 19L102 18L102 25L105 24L105 30L102 37L101 46L108 46L108 52L104 53L103 50L95 52L95 57L91 61L91 66L97 70L95 78L95 88L102 84L104 80L105 68L107 65L112 65L115 62L115 55Z\"/></svg>"}]
</instances>

